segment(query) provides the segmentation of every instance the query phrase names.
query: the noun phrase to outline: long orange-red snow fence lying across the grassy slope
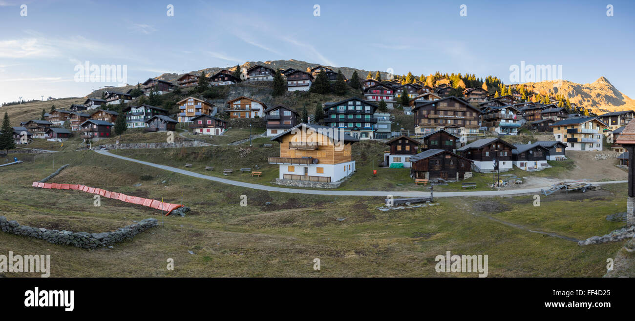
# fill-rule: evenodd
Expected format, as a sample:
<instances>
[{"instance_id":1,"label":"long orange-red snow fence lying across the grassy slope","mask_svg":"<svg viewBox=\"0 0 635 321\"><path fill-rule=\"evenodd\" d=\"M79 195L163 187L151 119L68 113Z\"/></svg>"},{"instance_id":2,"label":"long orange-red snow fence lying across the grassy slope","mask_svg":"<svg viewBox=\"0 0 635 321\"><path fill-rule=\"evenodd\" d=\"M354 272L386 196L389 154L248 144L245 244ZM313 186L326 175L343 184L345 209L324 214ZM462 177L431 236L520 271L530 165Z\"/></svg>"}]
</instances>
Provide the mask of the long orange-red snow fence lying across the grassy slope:
<instances>
[{"instance_id":1,"label":"long orange-red snow fence lying across the grassy slope","mask_svg":"<svg viewBox=\"0 0 635 321\"><path fill-rule=\"evenodd\" d=\"M166 211L166 214L165 214L166 216L170 215L170 213L172 213L173 210L178 209L178 207L183 207L181 204L171 204L166 202L160 202L159 200L145 199L144 197L131 196L131 195L126 195L124 193L110 192L107 190L102 190L101 188L87 187L84 185L39 183L37 181L34 181L31 186L39 187L39 188L55 188L56 190L81 190L82 192L99 194L104 197L108 197L109 199L118 199L118 200L121 200L122 202L152 207L153 209L158 209L159 211Z\"/></svg>"}]
</instances>

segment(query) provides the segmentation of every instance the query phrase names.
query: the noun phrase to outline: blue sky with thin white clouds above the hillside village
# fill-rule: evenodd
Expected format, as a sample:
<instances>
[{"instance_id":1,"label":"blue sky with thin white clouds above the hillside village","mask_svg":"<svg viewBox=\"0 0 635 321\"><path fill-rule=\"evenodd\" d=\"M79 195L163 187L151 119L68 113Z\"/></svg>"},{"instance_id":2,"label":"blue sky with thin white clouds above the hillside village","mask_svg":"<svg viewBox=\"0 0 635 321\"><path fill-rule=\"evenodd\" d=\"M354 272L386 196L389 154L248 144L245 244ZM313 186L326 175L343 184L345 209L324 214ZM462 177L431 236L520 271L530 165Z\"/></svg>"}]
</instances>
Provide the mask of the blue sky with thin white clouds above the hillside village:
<instances>
[{"instance_id":1,"label":"blue sky with thin white clouds above the hillside village","mask_svg":"<svg viewBox=\"0 0 635 321\"><path fill-rule=\"evenodd\" d=\"M288 59L505 84L521 62L556 65L635 98L634 53L635 1L0 0L0 103ZM126 77L83 79L86 64Z\"/></svg>"}]
</instances>

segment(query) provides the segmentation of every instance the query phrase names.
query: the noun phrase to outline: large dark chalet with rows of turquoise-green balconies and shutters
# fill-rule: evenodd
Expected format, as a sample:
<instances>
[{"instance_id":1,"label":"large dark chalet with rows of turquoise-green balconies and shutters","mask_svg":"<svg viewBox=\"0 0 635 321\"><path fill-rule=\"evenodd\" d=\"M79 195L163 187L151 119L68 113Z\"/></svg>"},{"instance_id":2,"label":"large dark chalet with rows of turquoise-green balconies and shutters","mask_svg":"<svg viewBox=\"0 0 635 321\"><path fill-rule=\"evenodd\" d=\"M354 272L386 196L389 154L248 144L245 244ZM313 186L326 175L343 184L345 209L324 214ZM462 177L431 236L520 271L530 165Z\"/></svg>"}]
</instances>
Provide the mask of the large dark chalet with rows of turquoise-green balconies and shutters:
<instances>
[{"instance_id":1,"label":"large dark chalet with rows of turquoise-green balconies and shutters","mask_svg":"<svg viewBox=\"0 0 635 321\"><path fill-rule=\"evenodd\" d=\"M373 117L377 105L359 98L349 98L340 102L324 103L323 122L330 128L337 128L344 134L360 140L375 139Z\"/></svg>"}]
</instances>

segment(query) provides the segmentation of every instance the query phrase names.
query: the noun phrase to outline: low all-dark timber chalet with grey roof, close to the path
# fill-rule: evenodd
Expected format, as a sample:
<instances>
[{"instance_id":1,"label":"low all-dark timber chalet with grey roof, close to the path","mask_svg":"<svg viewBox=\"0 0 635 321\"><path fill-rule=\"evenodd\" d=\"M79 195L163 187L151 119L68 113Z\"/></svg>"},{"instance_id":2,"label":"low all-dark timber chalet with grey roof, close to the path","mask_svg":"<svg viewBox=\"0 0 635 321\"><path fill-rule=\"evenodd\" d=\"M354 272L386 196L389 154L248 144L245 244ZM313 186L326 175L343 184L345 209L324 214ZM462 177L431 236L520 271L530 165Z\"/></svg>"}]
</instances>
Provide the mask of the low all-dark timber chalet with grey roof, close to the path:
<instances>
[{"instance_id":1,"label":"low all-dark timber chalet with grey roof, close to the path","mask_svg":"<svg viewBox=\"0 0 635 321\"><path fill-rule=\"evenodd\" d=\"M472 176L472 161L445 149L420 152L411 156L410 162L412 178L458 181Z\"/></svg>"}]
</instances>

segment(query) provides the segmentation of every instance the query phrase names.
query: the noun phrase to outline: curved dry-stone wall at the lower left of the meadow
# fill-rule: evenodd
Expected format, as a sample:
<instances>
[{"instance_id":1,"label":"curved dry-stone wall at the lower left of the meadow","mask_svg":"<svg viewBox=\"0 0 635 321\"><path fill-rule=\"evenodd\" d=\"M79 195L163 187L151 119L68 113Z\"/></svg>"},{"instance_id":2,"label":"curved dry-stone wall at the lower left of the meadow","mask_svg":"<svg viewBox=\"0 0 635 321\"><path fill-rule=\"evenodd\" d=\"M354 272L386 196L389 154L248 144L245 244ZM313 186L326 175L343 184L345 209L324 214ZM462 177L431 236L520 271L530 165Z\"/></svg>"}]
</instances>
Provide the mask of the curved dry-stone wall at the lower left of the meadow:
<instances>
[{"instance_id":1,"label":"curved dry-stone wall at the lower left of the meadow","mask_svg":"<svg viewBox=\"0 0 635 321\"><path fill-rule=\"evenodd\" d=\"M97 247L109 246L110 244L122 242L123 240L132 239L138 233L144 232L157 225L159 225L159 223L156 218L146 218L137 223L118 228L114 232L87 233L34 228L20 225L17 221L7 221L4 216L0 216L0 229L3 232L42 239L53 244L82 247L84 249L95 249Z\"/></svg>"}]
</instances>

